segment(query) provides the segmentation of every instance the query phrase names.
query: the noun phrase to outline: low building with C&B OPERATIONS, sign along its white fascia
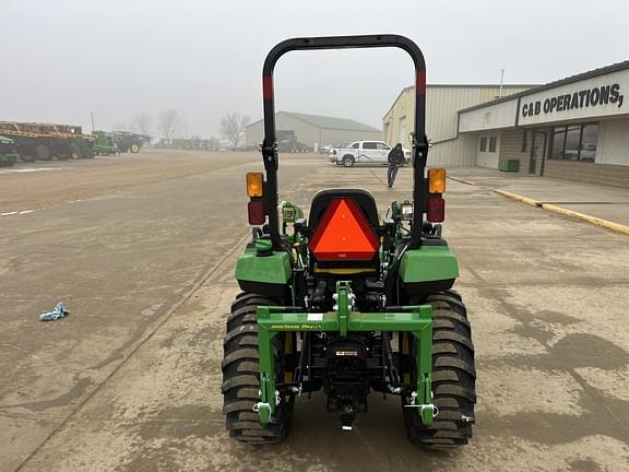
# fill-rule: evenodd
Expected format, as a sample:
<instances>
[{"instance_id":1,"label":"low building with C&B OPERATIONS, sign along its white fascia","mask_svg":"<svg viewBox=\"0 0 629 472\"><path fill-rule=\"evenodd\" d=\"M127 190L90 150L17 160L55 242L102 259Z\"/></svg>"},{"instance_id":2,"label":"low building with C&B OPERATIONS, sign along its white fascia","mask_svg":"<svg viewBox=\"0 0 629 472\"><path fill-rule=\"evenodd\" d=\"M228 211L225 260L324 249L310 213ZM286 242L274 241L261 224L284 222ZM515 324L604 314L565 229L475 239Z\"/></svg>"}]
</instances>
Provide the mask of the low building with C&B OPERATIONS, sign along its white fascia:
<instances>
[{"instance_id":1,"label":"low building with C&B OPERATIONS, sign along its white fascia","mask_svg":"<svg viewBox=\"0 0 629 472\"><path fill-rule=\"evenodd\" d=\"M472 164L629 187L629 61L461 109Z\"/></svg>"}]
</instances>

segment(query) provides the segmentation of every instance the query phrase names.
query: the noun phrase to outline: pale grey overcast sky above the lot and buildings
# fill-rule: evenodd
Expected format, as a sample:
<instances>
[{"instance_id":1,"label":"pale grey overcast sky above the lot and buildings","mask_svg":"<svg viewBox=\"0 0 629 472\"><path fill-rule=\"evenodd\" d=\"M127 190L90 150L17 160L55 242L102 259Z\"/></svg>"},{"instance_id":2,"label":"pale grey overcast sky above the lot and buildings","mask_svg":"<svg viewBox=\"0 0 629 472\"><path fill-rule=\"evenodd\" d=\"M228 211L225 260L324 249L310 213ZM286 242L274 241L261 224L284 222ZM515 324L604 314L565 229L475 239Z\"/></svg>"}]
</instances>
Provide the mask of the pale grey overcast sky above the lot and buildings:
<instances>
[{"instance_id":1,"label":"pale grey overcast sky above the lot and buildings","mask_svg":"<svg viewBox=\"0 0 629 472\"><path fill-rule=\"evenodd\" d=\"M269 49L295 36L395 33L428 83L545 83L629 59L626 0L0 0L0 120L129 126L176 108L186 134L262 116ZM395 49L290 52L276 109L381 128L412 62ZM155 120L156 118L154 118ZM154 134L156 130L153 131Z\"/></svg>"}]
</instances>

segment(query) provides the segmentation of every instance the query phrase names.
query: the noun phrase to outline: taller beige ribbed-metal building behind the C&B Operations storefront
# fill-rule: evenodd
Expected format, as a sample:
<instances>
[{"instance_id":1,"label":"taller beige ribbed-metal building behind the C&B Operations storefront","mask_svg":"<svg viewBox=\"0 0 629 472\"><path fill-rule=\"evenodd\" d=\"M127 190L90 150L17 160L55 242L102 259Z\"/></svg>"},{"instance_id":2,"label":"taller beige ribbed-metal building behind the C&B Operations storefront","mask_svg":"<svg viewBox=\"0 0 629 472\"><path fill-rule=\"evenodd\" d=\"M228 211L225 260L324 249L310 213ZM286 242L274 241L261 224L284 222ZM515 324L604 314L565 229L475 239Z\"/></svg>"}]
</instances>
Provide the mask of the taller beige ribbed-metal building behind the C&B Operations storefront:
<instances>
[{"instance_id":1,"label":"taller beige ribbed-metal building behind the C&B Operations storefront","mask_svg":"<svg viewBox=\"0 0 629 472\"><path fill-rule=\"evenodd\" d=\"M427 85L426 134L432 143L430 165L475 165L476 154L465 138L458 139L458 111L535 85ZM383 118L384 141L408 146L415 126L415 87L404 88Z\"/></svg>"}]
</instances>

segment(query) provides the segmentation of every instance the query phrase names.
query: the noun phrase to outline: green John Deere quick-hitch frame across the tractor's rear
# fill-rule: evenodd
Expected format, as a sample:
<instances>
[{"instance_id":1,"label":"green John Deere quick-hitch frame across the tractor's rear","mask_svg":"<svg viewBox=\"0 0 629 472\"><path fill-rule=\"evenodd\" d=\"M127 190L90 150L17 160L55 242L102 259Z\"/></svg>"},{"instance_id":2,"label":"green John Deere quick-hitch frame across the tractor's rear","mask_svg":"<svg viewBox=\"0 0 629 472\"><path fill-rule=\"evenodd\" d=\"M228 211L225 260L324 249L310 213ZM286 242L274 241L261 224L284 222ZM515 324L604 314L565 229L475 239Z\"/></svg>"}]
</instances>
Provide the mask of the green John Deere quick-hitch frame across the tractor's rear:
<instances>
[{"instance_id":1,"label":"green John Deere quick-hitch frame across the tractor's rear","mask_svg":"<svg viewBox=\"0 0 629 472\"><path fill-rule=\"evenodd\" d=\"M273 338L282 331L294 332L410 332L417 339L417 385L411 396L410 408L417 408L425 426L431 426L436 416L432 403L432 307L404 306L399 311L354 311L354 294L347 281L336 283L334 311L295 312L286 307L259 306L258 341L260 356L260 402L253 411L260 423L273 423L281 396L275 386Z\"/></svg>"}]
</instances>

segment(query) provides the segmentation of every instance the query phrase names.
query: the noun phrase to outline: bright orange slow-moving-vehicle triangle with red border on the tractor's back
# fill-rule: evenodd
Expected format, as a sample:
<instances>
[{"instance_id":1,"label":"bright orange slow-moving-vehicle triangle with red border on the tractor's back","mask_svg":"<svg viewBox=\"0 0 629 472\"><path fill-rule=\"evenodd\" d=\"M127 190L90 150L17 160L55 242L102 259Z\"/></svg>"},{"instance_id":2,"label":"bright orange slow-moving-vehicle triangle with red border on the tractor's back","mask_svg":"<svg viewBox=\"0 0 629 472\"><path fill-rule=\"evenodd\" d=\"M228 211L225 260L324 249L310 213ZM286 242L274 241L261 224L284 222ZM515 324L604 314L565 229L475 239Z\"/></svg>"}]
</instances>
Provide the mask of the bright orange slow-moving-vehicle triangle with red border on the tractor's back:
<instances>
[{"instance_id":1,"label":"bright orange slow-moving-vehicle triangle with red border on the tractor's back","mask_svg":"<svg viewBox=\"0 0 629 472\"><path fill-rule=\"evenodd\" d=\"M368 261L379 246L354 199L332 200L310 240L310 250L319 261Z\"/></svg>"}]
</instances>

